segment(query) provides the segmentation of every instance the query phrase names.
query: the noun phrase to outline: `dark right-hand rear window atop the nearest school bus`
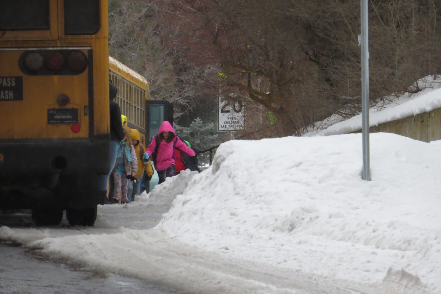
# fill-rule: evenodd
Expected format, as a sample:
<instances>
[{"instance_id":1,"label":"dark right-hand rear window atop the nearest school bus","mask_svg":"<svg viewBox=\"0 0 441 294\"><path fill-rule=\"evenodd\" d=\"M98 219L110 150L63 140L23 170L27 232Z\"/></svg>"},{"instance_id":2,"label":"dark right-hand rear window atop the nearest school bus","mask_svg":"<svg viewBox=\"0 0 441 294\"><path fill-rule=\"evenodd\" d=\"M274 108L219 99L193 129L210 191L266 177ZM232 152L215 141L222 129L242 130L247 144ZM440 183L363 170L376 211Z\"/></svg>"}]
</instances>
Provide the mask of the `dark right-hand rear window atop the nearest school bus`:
<instances>
[{"instance_id":1,"label":"dark right-hand rear window atop the nearest school bus","mask_svg":"<svg viewBox=\"0 0 441 294\"><path fill-rule=\"evenodd\" d=\"M93 35L100 30L99 0L64 0L64 34Z\"/></svg>"}]
</instances>

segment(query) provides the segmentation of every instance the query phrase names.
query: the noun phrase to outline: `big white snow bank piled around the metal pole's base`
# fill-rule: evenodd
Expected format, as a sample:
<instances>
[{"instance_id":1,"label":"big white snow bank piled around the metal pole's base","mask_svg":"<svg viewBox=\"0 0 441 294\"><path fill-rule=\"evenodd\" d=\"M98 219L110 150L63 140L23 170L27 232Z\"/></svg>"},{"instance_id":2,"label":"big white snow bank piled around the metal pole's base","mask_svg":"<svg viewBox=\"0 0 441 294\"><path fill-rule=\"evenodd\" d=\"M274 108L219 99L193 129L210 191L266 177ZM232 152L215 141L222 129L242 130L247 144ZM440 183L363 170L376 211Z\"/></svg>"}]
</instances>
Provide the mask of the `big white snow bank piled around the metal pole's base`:
<instances>
[{"instance_id":1,"label":"big white snow bank piled around the metal pole's base","mask_svg":"<svg viewBox=\"0 0 441 294\"><path fill-rule=\"evenodd\" d=\"M216 253L378 283L405 270L441 291L441 149L371 134L229 141L157 226Z\"/></svg>"}]
</instances>

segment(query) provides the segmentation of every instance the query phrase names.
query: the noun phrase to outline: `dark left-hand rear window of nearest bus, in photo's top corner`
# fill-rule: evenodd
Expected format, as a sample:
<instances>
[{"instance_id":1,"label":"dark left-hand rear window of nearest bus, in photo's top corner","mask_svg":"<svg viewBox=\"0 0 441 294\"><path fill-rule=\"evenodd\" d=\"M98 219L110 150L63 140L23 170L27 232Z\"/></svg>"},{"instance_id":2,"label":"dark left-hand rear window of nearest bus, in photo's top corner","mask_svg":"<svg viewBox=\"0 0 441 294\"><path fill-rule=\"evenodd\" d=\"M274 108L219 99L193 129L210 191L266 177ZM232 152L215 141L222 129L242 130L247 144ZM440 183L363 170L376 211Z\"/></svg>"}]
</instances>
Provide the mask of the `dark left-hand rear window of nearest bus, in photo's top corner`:
<instances>
[{"instance_id":1,"label":"dark left-hand rear window of nearest bus, in photo's top corner","mask_svg":"<svg viewBox=\"0 0 441 294\"><path fill-rule=\"evenodd\" d=\"M49 0L0 0L0 30L49 30Z\"/></svg>"}]
</instances>

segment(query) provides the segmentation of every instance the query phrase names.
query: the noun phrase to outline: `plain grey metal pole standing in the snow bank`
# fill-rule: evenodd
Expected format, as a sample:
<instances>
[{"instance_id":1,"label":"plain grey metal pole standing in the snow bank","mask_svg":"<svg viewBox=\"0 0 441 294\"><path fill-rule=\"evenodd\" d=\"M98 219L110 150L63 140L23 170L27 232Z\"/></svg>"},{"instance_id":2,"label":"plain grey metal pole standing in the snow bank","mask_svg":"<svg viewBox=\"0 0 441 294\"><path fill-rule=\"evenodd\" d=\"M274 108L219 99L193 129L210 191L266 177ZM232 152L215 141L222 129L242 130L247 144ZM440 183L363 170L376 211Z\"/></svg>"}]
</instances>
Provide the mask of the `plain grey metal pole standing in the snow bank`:
<instances>
[{"instance_id":1,"label":"plain grey metal pole standing in the snow bank","mask_svg":"<svg viewBox=\"0 0 441 294\"><path fill-rule=\"evenodd\" d=\"M362 179L370 181L369 159L369 32L367 0L361 0L361 80L362 80L362 132L363 171Z\"/></svg>"}]
</instances>

